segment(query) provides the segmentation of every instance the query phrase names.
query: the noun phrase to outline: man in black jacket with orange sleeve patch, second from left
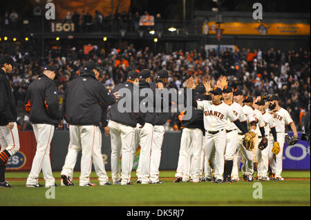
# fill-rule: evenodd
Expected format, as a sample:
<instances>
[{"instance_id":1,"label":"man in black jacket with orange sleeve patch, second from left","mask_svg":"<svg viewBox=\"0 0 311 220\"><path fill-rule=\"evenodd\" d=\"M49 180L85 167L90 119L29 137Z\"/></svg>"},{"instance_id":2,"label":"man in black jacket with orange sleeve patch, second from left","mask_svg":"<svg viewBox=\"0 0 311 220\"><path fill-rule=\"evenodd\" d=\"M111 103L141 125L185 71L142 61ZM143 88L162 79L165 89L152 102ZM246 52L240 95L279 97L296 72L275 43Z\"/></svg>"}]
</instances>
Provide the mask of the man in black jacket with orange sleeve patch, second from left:
<instances>
[{"instance_id":1,"label":"man in black jacket with orange sleeve patch, second from left","mask_svg":"<svg viewBox=\"0 0 311 220\"><path fill-rule=\"evenodd\" d=\"M55 125L60 122L55 76L57 68L46 66L39 78L28 87L26 94L26 112L30 113L30 121L37 141L37 151L32 161L26 187L40 187L39 174L44 174L46 187L55 186L52 168L50 166L50 142L53 139Z\"/></svg>"}]
</instances>

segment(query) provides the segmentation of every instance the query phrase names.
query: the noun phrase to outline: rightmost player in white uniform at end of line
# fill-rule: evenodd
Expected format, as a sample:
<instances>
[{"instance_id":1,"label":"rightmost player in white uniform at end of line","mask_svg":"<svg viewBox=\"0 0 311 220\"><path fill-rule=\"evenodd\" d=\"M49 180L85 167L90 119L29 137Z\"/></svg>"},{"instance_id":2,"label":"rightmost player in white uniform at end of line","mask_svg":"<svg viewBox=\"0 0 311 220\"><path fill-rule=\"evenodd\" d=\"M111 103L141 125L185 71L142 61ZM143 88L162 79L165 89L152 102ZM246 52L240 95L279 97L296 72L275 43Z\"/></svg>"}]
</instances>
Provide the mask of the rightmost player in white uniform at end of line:
<instances>
[{"instance_id":1,"label":"rightmost player in white uniform at end of line","mask_svg":"<svg viewBox=\"0 0 311 220\"><path fill-rule=\"evenodd\" d=\"M269 100L269 111L270 114L272 114L273 119L276 123L276 134L277 134L277 141L280 145L280 152L279 154L274 154L272 152L273 148L273 137L272 134L269 136L269 142L270 142L270 150L269 150L269 163L270 167L272 169L272 177L270 179L275 179L278 181L283 181L283 178L281 177L282 167L283 167L283 147L284 147L284 141L285 141L285 126L290 125L290 128L292 128L292 131L294 132L294 135L297 135L297 130L294 121L292 121L292 118L290 117L290 114L287 110L284 108L281 108L279 106L279 97L276 95L270 96ZM274 159L275 155L275 159Z\"/></svg>"}]
</instances>

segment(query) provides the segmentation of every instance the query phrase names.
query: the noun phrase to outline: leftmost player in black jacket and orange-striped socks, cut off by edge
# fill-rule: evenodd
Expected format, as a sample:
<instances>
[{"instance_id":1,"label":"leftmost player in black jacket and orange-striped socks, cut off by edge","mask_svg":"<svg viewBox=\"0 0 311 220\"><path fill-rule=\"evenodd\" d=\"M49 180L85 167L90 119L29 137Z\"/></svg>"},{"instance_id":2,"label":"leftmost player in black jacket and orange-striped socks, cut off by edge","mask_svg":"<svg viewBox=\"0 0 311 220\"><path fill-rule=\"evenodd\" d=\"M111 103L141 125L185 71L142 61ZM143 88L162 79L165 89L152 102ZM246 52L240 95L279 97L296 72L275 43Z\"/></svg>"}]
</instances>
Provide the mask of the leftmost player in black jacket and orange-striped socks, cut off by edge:
<instances>
[{"instance_id":1,"label":"leftmost player in black jacket and orange-striped socks, cut off by edge","mask_svg":"<svg viewBox=\"0 0 311 220\"><path fill-rule=\"evenodd\" d=\"M8 76L14 60L8 55L0 57L0 187L12 187L6 181L5 173L8 159L19 150L17 130L17 110Z\"/></svg>"}]
</instances>

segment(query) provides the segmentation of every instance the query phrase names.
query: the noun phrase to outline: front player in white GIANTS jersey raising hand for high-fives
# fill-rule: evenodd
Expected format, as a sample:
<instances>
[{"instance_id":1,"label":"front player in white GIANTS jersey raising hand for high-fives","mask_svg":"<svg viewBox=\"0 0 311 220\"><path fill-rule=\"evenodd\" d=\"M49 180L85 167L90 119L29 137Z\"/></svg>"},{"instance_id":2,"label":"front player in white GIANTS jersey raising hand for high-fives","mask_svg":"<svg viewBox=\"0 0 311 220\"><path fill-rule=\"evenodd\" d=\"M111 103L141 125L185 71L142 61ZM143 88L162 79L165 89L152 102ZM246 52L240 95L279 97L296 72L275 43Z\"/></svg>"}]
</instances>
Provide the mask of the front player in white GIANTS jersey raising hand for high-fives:
<instances>
[{"instance_id":1,"label":"front player in white GIANTS jersey raising hand for high-fives","mask_svg":"<svg viewBox=\"0 0 311 220\"><path fill-rule=\"evenodd\" d=\"M243 134L247 132L233 110L226 103L220 101L223 91L220 88L211 90L209 82L204 84L207 92L211 92L212 101L196 101L196 105L199 110L204 112L205 152L208 163L214 169L215 183L223 183L227 119L233 121ZM188 79L186 86L192 88L192 78Z\"/></svg>"}]
</instances>

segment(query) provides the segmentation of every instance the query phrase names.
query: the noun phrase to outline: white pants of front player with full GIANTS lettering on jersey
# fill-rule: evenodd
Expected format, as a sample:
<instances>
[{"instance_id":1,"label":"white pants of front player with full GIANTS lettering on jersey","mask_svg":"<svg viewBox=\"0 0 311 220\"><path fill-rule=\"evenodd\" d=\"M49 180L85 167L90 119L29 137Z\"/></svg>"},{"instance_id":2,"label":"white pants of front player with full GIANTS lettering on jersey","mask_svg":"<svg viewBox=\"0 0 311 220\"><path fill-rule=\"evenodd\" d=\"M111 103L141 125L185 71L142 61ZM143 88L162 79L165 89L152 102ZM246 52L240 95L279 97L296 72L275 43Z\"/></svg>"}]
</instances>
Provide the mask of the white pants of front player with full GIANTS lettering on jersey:
<instances>
[{"instance_id":1,"label":"white pants of front player with full GIANTS lettering on jersey","mask_svg":"<svg viewBox=\"0 0 311 220\"><path fill-rule=\"evenodd\" d=\"M210 163L211 168L214 169L215 179L223 180L226 131L222 130L217 134L209 134L209 132L206 132L205 136L205 154L207 155L207 160Z\"/></svg>"}]
</instances>

